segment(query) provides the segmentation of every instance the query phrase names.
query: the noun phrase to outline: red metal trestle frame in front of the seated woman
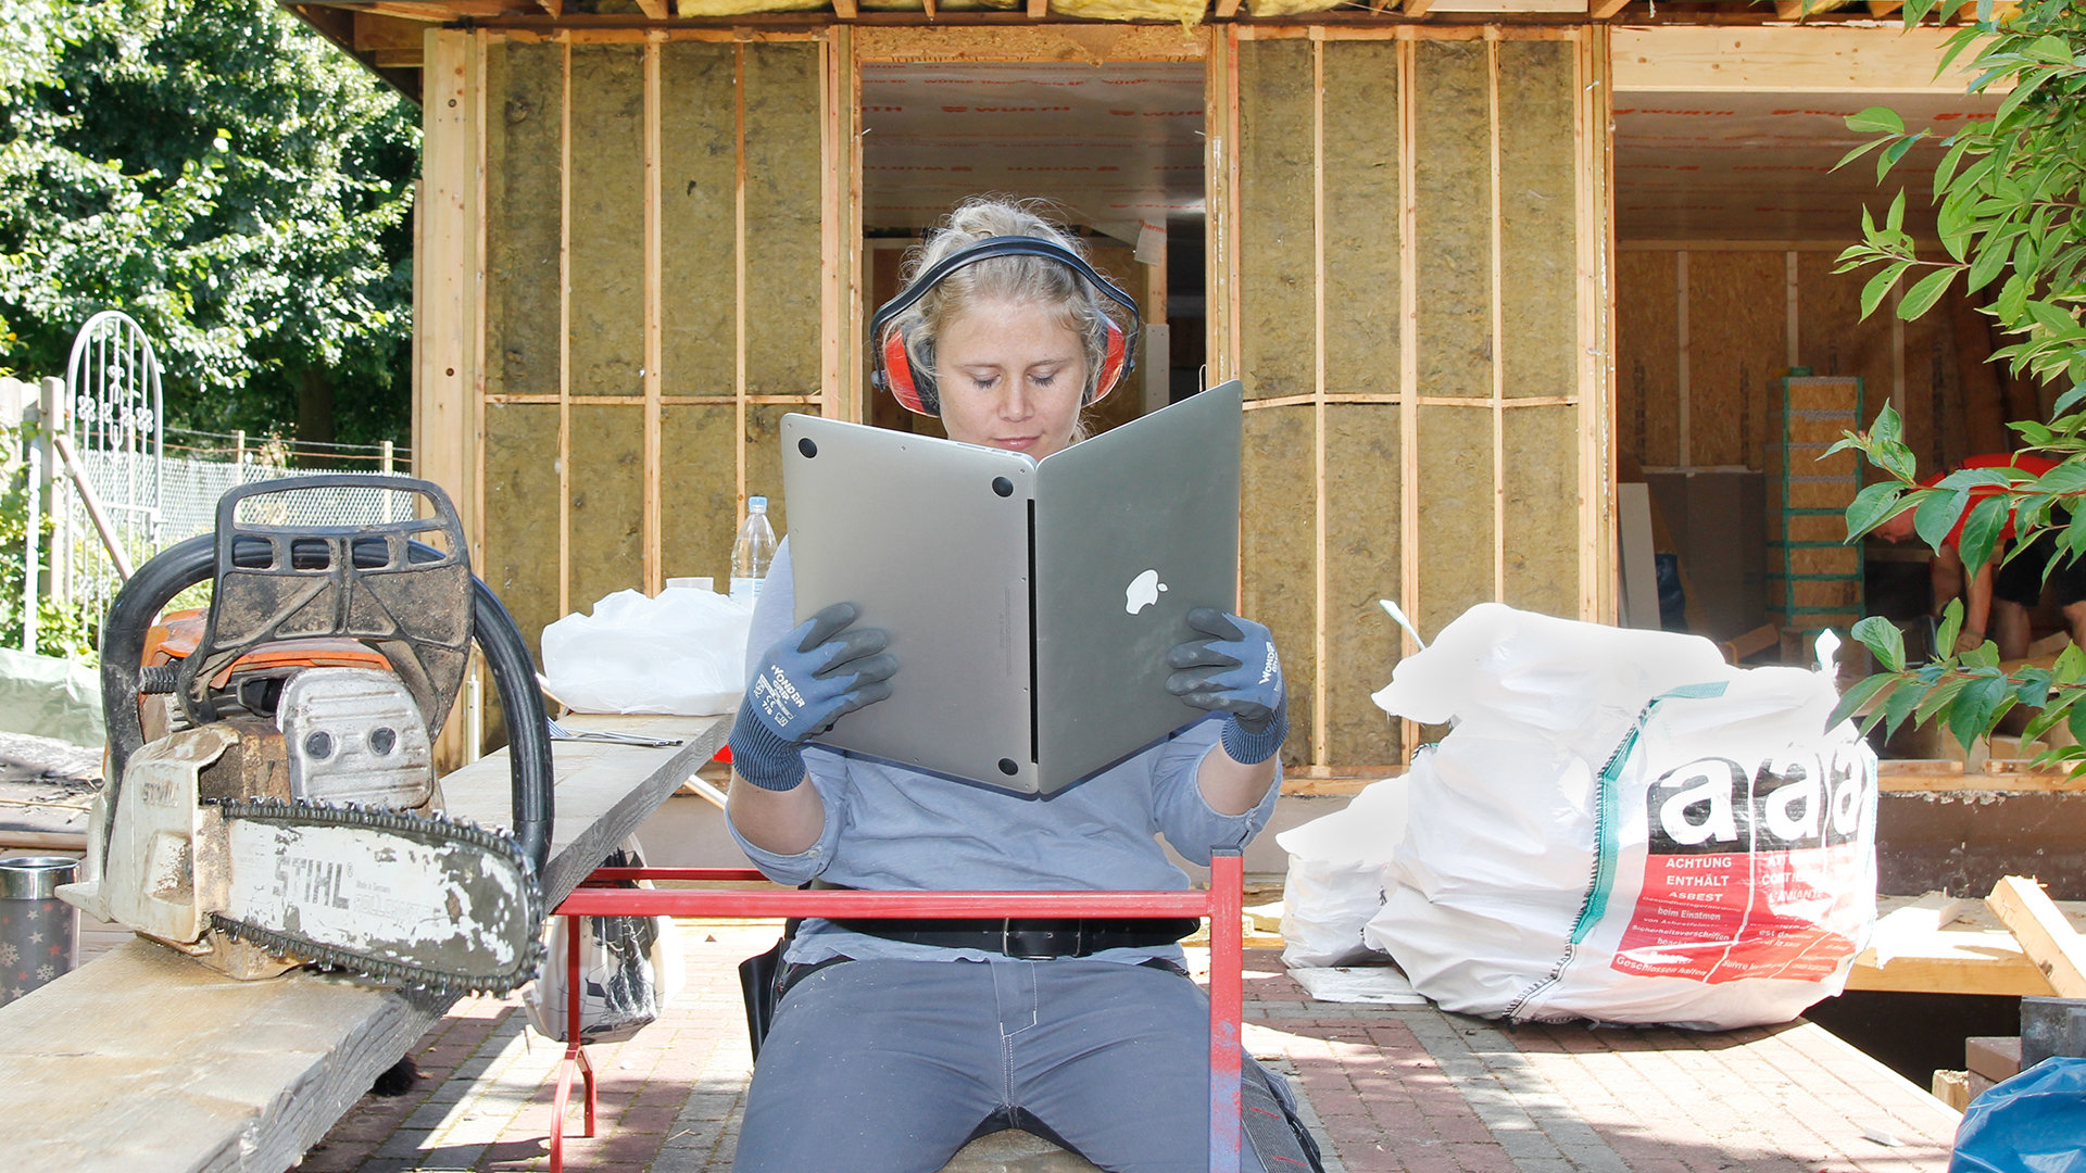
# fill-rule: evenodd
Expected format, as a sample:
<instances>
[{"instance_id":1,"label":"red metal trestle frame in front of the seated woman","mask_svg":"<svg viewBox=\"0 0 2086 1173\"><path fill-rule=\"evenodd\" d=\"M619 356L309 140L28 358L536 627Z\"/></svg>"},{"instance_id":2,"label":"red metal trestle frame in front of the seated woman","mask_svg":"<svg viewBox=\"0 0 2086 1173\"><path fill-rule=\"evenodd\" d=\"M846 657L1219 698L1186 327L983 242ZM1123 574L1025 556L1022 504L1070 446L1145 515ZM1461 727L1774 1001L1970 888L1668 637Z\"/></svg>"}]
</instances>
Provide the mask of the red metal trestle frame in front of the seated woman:
<instances>
[{"instance_id":1,"label":"red metal trestle frame in front of the seated woman","mask_svg":"<svg viewBox=\"0 0 2086 1173\"><path fill-rule=\"evenodd\" d=\"M1210 1173L1239 1173L1239 1021L1245 1010L1245 862L1214 852L1208 891L862 891L655 889L620 881L757 881L753 868L597 868L555 916L1208 916L1210 918ZM565 933L565 1058L551 1100L551 1173L565 1167L565 1106L578 1071L595 1135L595 1069L580 1046L580 933Z\"/></svg>"}]
</instances>

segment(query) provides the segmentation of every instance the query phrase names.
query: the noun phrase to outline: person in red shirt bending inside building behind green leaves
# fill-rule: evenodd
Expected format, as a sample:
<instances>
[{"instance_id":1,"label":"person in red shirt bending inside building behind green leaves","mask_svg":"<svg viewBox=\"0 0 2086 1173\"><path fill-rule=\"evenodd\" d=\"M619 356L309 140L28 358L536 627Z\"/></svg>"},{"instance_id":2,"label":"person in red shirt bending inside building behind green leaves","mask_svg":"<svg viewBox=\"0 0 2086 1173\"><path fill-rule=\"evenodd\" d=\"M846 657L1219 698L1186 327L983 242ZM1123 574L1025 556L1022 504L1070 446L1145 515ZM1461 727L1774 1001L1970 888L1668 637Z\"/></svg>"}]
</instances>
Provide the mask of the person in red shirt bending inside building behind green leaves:
<instances>
[{"instance_id":1,"label":"person in red shirt bending inside building behind green leaves","mask_svg":"<svg viewBox=\"0 0 2086 1173\"><path fill-rule=\"evenodd\" d=\"M2015 468L2032 476L2042 476L2057 468L2057 461L2034 453L1992 453L1969 457L1957 468ZM1948 474L1938 472L1921 478L1921 484L1940 484L1944 476ZM2048 572L2051 591L2063 609L2071 641L2086 647L2086 559L2057 557L2053 566L2053 551L2057 549L2055 532L2044 530L2036 534L2028 549L2013 551L2007 557L2015 543L2013 513L2009 511L1992 555L1978 568L1978 574L1965 576L1963 526L1969 522L1978 501L1994 493L1998 493L1996 486L1971 488L1969 503L1927 561L1934 589L1932 614L1940 616L1950 599L1961 597L1963 630L1957 635L1955 651L1971 651L1990 639L1998 645L2000 660L2021 660L2028 655L2028 645L2034 639L2030 630L2032 612L2042 599L2044 572ZM1873 534L1888 543L1917 541L1919 534L1913 528L1915 513L1917 509L1907 509L1877 526Z\"/></svg>"}]
</instances>

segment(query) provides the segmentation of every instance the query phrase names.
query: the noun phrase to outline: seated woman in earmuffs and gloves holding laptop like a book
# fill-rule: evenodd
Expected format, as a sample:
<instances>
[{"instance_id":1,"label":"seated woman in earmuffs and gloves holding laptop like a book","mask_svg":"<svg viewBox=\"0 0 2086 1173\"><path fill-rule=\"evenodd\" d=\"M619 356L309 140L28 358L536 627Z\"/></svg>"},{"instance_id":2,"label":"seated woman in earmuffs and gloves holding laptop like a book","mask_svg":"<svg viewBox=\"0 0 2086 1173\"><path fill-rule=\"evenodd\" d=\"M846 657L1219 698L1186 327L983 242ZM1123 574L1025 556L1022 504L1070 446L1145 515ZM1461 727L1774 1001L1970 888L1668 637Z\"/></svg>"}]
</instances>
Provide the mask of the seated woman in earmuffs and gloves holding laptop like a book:
<instances>
[{"instance_id":1,"label":"seated woman in earmuffs and gloves holding laptop like a book","mask_svg":"<svg viewBox=\"0 0 2086 1173\"><path fill-rule=\"evenodd\" d=\"M1010 253L1005 238L1028 242ZM955 440L1043 459L1081 438L1081 409L1122 374L1110 317L1122 311L1037 205L962 205L909 257L907 282L872 328L880 382ZM905 674L851 605L797 626L793 607L784 541L755 607L728 804L732 835L780 883L1185 889L1154 833L1208 862L1275 808L1287 693L1258 622L1191 612L1202 637L1168 653L1168 689L1210 718L1033 799L811 743ZM1177 943L1193 927L803 920L734 1169L932 1171L1005 1127L1103 1169L1206 1169L1208 1000ZM1279 1077L1247 1060L1241 1096L1245 1169L1316 1167Z\"/></svg>"}]
</instances>

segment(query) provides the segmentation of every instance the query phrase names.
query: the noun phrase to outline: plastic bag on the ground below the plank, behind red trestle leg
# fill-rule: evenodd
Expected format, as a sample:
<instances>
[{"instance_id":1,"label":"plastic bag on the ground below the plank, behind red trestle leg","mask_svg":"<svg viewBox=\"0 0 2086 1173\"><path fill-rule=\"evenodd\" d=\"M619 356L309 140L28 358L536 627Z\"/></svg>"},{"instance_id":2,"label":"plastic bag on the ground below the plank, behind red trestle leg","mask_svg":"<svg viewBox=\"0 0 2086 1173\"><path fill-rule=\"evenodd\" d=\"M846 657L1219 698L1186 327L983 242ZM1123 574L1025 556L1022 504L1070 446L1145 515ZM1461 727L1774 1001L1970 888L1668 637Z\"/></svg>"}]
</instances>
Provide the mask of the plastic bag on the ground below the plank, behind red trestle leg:
<instances>
[{"instance_id":1,"label":"plastic bag on the ground below the plank, behind red trestle leg","mask_svg":"<svg viewBox=\"0 0 2086 1173\"><path fill-rule=\"evenodd\" d=\"M645 866L636 837L601 862L605 868ZM630 887L651 887L638 881ZM670 916L551 916L544 925L542 975L522 991L528 1025L553 1042L565 1039L565 966L572 925L580 941L580 1042L628 1039L659 1019L682 987L682 948Z\"/></svg>"}]
</instances>

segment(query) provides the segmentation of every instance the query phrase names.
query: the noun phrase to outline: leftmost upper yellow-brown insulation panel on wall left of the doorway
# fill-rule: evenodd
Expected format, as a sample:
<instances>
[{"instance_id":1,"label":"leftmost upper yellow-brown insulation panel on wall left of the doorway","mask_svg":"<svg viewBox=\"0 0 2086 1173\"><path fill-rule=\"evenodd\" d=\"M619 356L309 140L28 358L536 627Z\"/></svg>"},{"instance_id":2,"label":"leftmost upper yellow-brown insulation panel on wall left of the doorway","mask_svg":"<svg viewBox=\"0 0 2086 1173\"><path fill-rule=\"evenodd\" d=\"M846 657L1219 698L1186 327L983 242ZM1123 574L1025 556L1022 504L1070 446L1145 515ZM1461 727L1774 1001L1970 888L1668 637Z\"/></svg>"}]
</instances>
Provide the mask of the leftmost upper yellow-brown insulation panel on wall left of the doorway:
<instances>
[{"instance_id":1,"label":"leftmost upper yellow-brown insulation panel on wall left of the doorway","mask_svg":"<svg viewBox=\"0 0 2086 1173\"><path fill-rule=\"evenodd\" d=\"M557 394L565 50L486 46L486 392Z\"/></svg>"}]
</instances>

